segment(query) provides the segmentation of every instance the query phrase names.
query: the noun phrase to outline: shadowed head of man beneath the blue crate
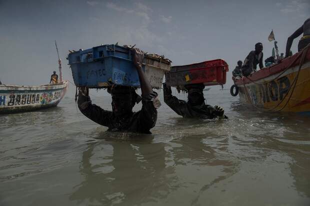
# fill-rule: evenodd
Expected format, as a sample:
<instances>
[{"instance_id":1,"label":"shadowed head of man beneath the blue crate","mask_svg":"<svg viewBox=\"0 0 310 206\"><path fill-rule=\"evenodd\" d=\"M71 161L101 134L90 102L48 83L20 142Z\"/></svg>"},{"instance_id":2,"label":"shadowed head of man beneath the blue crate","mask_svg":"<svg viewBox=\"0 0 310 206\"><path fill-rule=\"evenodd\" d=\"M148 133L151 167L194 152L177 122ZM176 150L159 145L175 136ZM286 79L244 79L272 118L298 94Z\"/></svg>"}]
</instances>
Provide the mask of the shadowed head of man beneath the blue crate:
<instances>
[{"instance_id":1,"label":"shadowed head of man beneath the blue crate","mask_svg":"<svg viewBox=\"0 0 310 206\"><path fill-rule=\"evenodd\" d=\"M138 97L134 88L115 85L108 88L107 92L112 96L112 111L116 115L125 115L132 112Z\"/></svg>"}]
</instances>

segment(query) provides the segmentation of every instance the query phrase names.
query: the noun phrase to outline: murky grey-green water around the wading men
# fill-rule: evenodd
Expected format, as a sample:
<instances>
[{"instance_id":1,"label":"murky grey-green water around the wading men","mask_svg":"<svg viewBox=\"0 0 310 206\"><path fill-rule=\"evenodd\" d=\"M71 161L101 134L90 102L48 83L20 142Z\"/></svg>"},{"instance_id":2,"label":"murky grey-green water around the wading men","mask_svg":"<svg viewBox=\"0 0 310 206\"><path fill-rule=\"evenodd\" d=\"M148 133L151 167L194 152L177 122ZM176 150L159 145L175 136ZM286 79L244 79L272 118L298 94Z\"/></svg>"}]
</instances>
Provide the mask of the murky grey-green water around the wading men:
<instances>
[{"instance_id":1,"label":"murky grey-green water around the wading men","mask_svg":"<svg viewBox=\"0 0 310 206\"><path fill-rule=\"evenodd\" d=\"M110 133L71 93L56 108L0 116L0 205L309 206L310 117L205 94L229 120L182 119L162 101L152 135Z\"/></svg>"}]
</instances>

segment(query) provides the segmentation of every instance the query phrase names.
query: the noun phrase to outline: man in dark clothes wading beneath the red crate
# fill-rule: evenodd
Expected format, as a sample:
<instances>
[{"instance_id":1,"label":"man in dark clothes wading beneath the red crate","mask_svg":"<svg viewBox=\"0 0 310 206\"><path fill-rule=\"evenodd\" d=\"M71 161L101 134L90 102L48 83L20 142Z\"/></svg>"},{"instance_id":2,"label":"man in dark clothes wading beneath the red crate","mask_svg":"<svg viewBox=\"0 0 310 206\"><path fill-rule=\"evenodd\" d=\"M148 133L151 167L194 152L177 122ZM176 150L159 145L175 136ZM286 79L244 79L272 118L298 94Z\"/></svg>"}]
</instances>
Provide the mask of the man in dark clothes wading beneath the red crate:
<instances>
[{"instance_id":1,"label":"man in dark clothes wading beneath the red crate","mask_svg":"<svg viewBox=\"0 0 310 206\"><path fill-rule=\"evenodd\" d=\"M189 84L185 85L187 90L188 101L177 99L172 96L171 87L163 83L163 101L174 111L176 114L186 118L227 118L224 115L224 110L221 107L206 105L203 97L203 84Z\"/></svg>"}]
</instances>

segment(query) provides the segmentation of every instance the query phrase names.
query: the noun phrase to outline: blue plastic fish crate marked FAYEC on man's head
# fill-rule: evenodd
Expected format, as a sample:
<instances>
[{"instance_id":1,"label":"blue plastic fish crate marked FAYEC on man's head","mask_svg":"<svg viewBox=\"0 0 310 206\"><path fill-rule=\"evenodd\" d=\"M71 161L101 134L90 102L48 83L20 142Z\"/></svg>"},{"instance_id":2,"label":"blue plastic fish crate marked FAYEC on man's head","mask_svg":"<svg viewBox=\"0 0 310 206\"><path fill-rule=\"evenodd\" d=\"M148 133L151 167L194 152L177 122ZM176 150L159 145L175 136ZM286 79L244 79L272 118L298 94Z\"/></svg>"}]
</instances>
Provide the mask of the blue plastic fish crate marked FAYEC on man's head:
<instances>
[{"instance_id":1,"label":"blue plastic fish crate marked FAYEC on man's head","mask_svg":"<svg viewBox=\"0 0 310 206\"><path fill-rule=\"evenodd\" d=\"M109 84L139 87L139 77L129 48L102 45L68 55L74 84L100 88ZM144 69L144 68L143 68Z\"/></svg>"}]
</instances>

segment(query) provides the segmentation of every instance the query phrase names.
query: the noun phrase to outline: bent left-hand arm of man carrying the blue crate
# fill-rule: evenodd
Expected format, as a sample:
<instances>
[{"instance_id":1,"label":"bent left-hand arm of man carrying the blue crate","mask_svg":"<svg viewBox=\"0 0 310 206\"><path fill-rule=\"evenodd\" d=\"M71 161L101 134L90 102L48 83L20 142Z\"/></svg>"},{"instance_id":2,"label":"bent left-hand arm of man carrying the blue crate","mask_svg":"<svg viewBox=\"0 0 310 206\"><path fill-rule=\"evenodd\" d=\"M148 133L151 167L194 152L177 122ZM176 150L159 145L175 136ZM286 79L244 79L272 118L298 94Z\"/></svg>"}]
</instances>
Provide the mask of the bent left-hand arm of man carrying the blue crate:
<instances>
[{"instance_id":1,"label":"bent left-hand arm of man carrying the blue crate","mask_svg":"<svg viewBox=\"0 0 310 206\"><path fill-rule=\"evenodd\" d=\"M112 112L103 110L95 104L91 104L88 94L88 88L81 87L78 89L77 106L79 111L95 123L109 127L111 124Z\"/></svg>"}]
</instances>

